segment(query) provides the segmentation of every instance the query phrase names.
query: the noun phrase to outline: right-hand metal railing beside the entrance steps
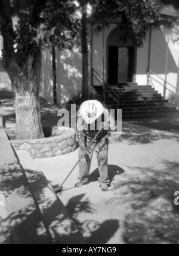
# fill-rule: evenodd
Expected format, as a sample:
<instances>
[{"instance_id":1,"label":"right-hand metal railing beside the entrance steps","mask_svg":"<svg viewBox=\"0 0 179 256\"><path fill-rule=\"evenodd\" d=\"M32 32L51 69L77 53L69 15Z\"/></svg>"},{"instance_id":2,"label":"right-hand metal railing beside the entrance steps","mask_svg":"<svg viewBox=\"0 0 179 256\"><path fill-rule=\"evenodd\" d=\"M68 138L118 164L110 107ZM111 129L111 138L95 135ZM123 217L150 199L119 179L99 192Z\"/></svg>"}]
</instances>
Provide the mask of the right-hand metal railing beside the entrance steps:
<instances>
[{"instance_id":1,"label":"right-hand metal railing beside the entrance steps","mask_svg":"<svg viewBox=\"0 0 179 256\"><path fill-rule=\"evenodd\" d=\"M158 79L161 80L158 81L155 77L151 76L151 75L155 75L156 77L158 77ZM153 80L155 82L157 82L159 85L161 85L163 87L163 98L165 99L165 95L166 95L166 90L169 91L172 95L174 95L175 98L177 98L177 101L179 101L179 89L175 88L175 86L171 85L171 83L167 82L165 79L163 79L162 77L160 77L158 74L156 74L154 71L152 70L147 70L147 81L149 82L149 84L152 86L152 88L155 89L155 86L153 85ZM170 89L167 87L170 86ZM172 91L172 89L174 91ZM178 92L178 95L177 95Z\"/></svg>"}]
</instances>

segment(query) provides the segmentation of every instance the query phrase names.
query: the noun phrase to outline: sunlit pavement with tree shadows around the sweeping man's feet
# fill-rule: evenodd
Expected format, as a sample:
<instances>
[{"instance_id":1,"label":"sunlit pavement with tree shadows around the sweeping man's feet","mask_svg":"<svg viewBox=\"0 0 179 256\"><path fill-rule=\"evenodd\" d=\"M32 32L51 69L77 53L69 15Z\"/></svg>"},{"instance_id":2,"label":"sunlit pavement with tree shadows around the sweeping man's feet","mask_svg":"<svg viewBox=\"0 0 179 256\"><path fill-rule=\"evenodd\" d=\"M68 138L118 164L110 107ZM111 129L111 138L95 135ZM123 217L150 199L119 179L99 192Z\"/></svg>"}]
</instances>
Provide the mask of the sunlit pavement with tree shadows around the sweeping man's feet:
<instances>
[{"instance_id":1,"label":"sunlit pavement with tree shadows around the sweeping man's feet","mask_svg":"<svg viewBox=\"0 0 179 256\"><path fill-rule=\"evenodd\" d=\"M76 168L58 196L87 243L179 243L178 144L175 133L124 123L109 147L109 192L98 186L95 156L89 185L74 188ZM35 162L55 188L77 159L78 150Z\"/></svg>"}]
</instances>

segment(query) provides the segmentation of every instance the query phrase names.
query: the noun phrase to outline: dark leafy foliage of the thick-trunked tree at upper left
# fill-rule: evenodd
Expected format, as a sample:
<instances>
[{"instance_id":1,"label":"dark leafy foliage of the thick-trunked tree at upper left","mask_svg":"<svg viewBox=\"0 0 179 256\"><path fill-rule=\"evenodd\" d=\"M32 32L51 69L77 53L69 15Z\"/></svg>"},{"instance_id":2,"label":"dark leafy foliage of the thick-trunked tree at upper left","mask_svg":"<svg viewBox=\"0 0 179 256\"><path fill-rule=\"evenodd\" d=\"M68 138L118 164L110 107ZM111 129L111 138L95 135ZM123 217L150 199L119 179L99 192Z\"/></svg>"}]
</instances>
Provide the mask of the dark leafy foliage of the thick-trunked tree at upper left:
<instances>
[{"instance_id":1,"label":"dark leafy foliage of the thick-trunked tree at upper left","mask_svg":"<svg viewBox=\"0 0 179 256\"><path fill-rule=\"evenodd\" d=\"M1 0L0 26L6 61L23 67L27 56L39 49L72 47L76 31L76 6L66 0Z\"/></svg>"}]
</instances>

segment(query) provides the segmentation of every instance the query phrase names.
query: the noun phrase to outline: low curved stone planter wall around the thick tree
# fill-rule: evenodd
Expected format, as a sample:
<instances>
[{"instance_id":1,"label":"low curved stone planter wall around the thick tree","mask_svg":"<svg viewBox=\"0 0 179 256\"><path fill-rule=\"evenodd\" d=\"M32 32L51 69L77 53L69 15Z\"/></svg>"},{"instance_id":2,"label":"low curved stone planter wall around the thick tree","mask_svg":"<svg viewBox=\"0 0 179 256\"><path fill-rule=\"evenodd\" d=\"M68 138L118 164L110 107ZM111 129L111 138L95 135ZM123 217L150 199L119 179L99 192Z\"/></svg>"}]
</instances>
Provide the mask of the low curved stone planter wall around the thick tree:
<instances>
[{"instance_id":1,"label":"low curved stone planter wall around the thick tree","mask_svg":"<svg viewBox=\"0 0 179 256\"><path fill-rule=\"evenodd\" d=\"M48 158L72 152L76 149L75 130L61 135L37 140L11 140L15 150L27 150L32 158Z\"/></svg>"}]
</instances>

